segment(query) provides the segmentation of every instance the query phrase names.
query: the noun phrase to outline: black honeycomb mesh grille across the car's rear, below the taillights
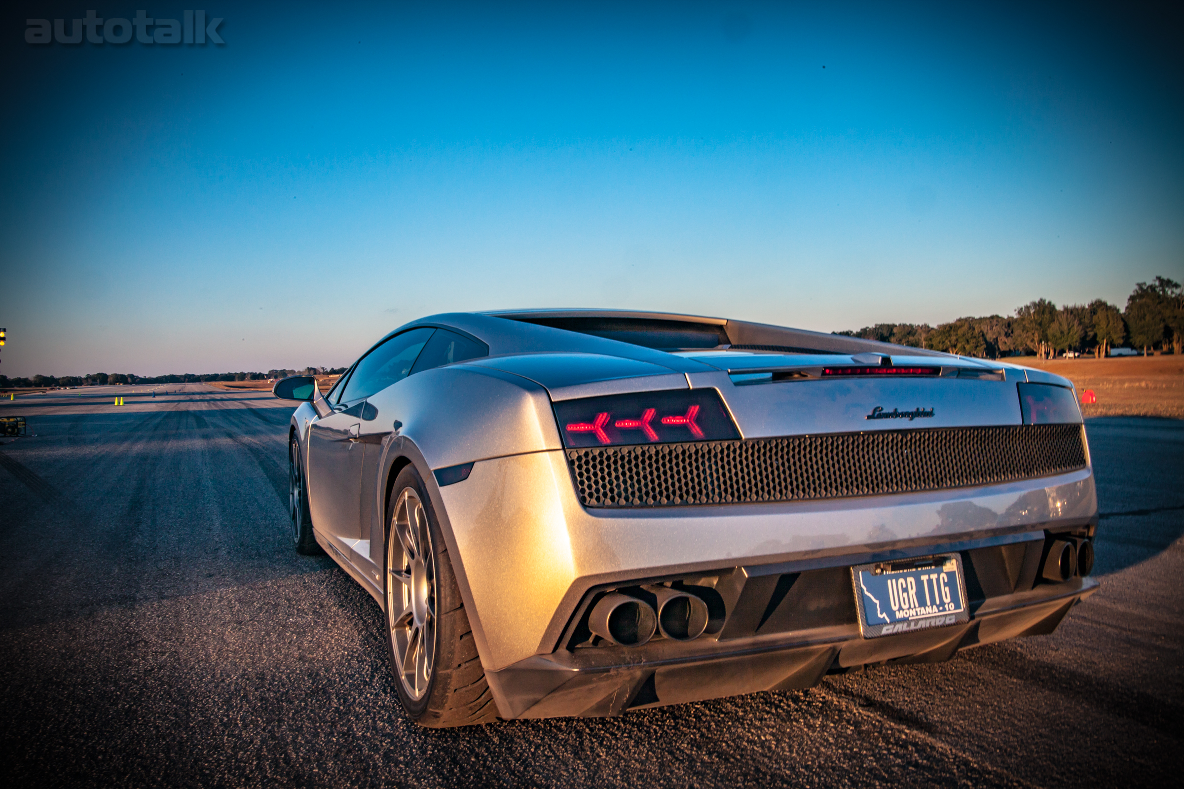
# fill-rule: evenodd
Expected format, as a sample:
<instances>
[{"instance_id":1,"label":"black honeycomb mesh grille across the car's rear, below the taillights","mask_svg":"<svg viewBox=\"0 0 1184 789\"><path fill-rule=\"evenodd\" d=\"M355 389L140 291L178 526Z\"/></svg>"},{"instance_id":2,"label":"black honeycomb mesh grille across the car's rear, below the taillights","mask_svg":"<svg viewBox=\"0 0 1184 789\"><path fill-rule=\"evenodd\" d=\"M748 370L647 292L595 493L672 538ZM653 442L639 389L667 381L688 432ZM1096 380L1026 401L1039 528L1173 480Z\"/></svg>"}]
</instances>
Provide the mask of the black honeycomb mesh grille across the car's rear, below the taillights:
<instances>
[{"instance_id":1,"label":"black honeycomb mesh grille across the car's rear, below the taillights","mask_svg":"<svg viewBox=\"0 0 1184 789\"><path fill-rule=\"evenodd\" d=\"M567 450L584 506L794 502L967 487L1086 465L1081 425Z\"/></svg>"}]
</instances>

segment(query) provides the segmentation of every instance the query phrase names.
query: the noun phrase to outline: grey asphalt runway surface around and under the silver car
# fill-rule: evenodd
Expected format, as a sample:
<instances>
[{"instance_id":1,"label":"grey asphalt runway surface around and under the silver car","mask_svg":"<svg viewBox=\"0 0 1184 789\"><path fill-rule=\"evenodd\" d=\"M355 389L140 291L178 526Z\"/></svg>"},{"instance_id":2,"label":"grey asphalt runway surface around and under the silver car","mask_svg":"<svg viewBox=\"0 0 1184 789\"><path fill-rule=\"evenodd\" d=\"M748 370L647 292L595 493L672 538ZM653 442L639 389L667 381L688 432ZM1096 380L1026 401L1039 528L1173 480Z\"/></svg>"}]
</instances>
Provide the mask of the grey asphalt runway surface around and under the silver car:
<instances>
[{"instance_id":1,"label":"grey asphalt runway surface around and under the silver car","mask_svg":"<svg viewBox=\"0 0 1184 789\"><path fill-rule=\"evenodd\" d=\"M371 596L288 547L290 408L156 389L0 402L37 434L0 439L6 787L1126 787L1179 771L1184 422L1088 423L1101 589L1053 635L803 692L430 731L399 707Z\"/></svg>"}]
</instances>

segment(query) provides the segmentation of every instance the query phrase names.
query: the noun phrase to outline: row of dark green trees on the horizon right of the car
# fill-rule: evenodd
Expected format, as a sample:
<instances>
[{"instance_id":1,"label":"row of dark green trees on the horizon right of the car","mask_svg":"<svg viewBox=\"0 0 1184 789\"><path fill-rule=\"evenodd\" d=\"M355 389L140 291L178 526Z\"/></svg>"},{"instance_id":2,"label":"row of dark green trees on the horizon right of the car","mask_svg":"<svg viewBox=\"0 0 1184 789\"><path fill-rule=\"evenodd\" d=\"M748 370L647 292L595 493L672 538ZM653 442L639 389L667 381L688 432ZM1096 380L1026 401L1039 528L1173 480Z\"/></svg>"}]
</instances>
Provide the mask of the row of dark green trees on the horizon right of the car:
<instances>
[{"instance_id":1,"label":"row of dark green trees on the horizon right of the car","mask_svg":"<svg viewBox=\"0 0 1184 789\"><path fill-rule=\"evenodd\" d=\"M963 356L998 358L1035 354L1050 358L1076 351L1107 356L1114 348L1184 353L1184 290L1166 277L1138 283L1119 310L1105 299L1064 305L1040 298L1017 308L1015 315L958 318L931 326L927 323L877 323L858 331L837 331L849 337L944 350Z\"/></svg>"}]
</instances>

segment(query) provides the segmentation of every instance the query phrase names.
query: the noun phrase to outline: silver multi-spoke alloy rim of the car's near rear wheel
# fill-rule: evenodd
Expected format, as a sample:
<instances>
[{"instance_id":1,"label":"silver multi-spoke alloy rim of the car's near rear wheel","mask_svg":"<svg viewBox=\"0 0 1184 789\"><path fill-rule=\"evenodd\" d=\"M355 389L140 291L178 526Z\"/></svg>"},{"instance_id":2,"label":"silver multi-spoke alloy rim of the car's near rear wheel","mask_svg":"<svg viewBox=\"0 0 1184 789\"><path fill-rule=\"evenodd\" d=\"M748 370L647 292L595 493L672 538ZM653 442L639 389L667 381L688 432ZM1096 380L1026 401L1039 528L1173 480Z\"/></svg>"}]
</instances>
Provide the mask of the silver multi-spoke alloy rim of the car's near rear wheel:
<instances>
[{"instance_id":1,"label":"silver multi-spoke alloy rim of the car's near rear wheel","mask_svg":"<svg viewBox=\"0 0 1184 789\"><path fill-rule=\"evenodd\" d=\"M423 502L412 487L395 499L386 547L386 626L403 690L423 699L436 660L436 555Z\"/></svg>"}]
</instances>

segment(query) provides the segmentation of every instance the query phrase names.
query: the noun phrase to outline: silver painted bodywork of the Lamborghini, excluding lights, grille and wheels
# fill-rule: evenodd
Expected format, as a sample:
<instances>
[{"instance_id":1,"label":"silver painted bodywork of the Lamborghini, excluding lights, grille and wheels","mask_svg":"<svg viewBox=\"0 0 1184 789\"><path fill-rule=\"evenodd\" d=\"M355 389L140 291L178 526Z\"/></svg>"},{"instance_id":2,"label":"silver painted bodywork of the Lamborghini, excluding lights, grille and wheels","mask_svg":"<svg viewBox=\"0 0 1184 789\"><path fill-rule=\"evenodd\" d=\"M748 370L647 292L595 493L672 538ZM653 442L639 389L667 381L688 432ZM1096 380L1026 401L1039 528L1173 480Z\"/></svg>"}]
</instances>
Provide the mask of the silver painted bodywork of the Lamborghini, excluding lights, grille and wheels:
<instances>
[{"instance_id":1,"label":"silver painted bodywork of the Lamborghini, excluding lights, grille and wheels","mask_svg":"<svg viewBox=\"0 0 1184 789\"><path fill-rule=\"evenodd\" d=\"M712 322L723 326L733 348L669 353L509 319L586 316ZM1096 523L1088 465L1054 477L919 493L586 509L577 496L552 407L574 397L714 388L744 439L1012 426L1022 422L1016 382L1072 389L1069 381L1048 373L850 337L668 313L449 313L397 331L418 325L466 332L489 345L489 356L403 379L367 400L367 418L358 420L356 434L348 434L349 426L346 433L334 428L337 455L341 441L354 448L345 451L348 468L342 470L337 458L337 468L327 478L343 485L341 473L353 476L360 468L358 515L348 516L358 525L342 526L332 513L354 512L346 502L353 492L310 479L314 530L330 556L382 604L390 483L398 468L413 464L429 489L490 675L553 653L578 604L598 584L749 565L845 567L958 550L958 545L1002 545L1035 539L1045 529ZM816 353L738 351L736 337L748 345ZM755 384L742 377L753 371L858 364L864 357L852 355L863 354L882 354L895 364L938 364L942 374ZM959 377L959 370L993 377ZM876 407L920 408L933 415L915 422L867 419ZM307 403L292 415L291 428L310 476L320 474L329 461L328 454L317 457L317 448L310 452L310 429L334 419L322 420ZM361 457L356 464L355 452ZM435 471L462 464L472 464L464 481L437 484ZM491 681L491 687L503 717L523 713L521 699L511 699L498 683Z\"/></svg>"}]
</instances>

